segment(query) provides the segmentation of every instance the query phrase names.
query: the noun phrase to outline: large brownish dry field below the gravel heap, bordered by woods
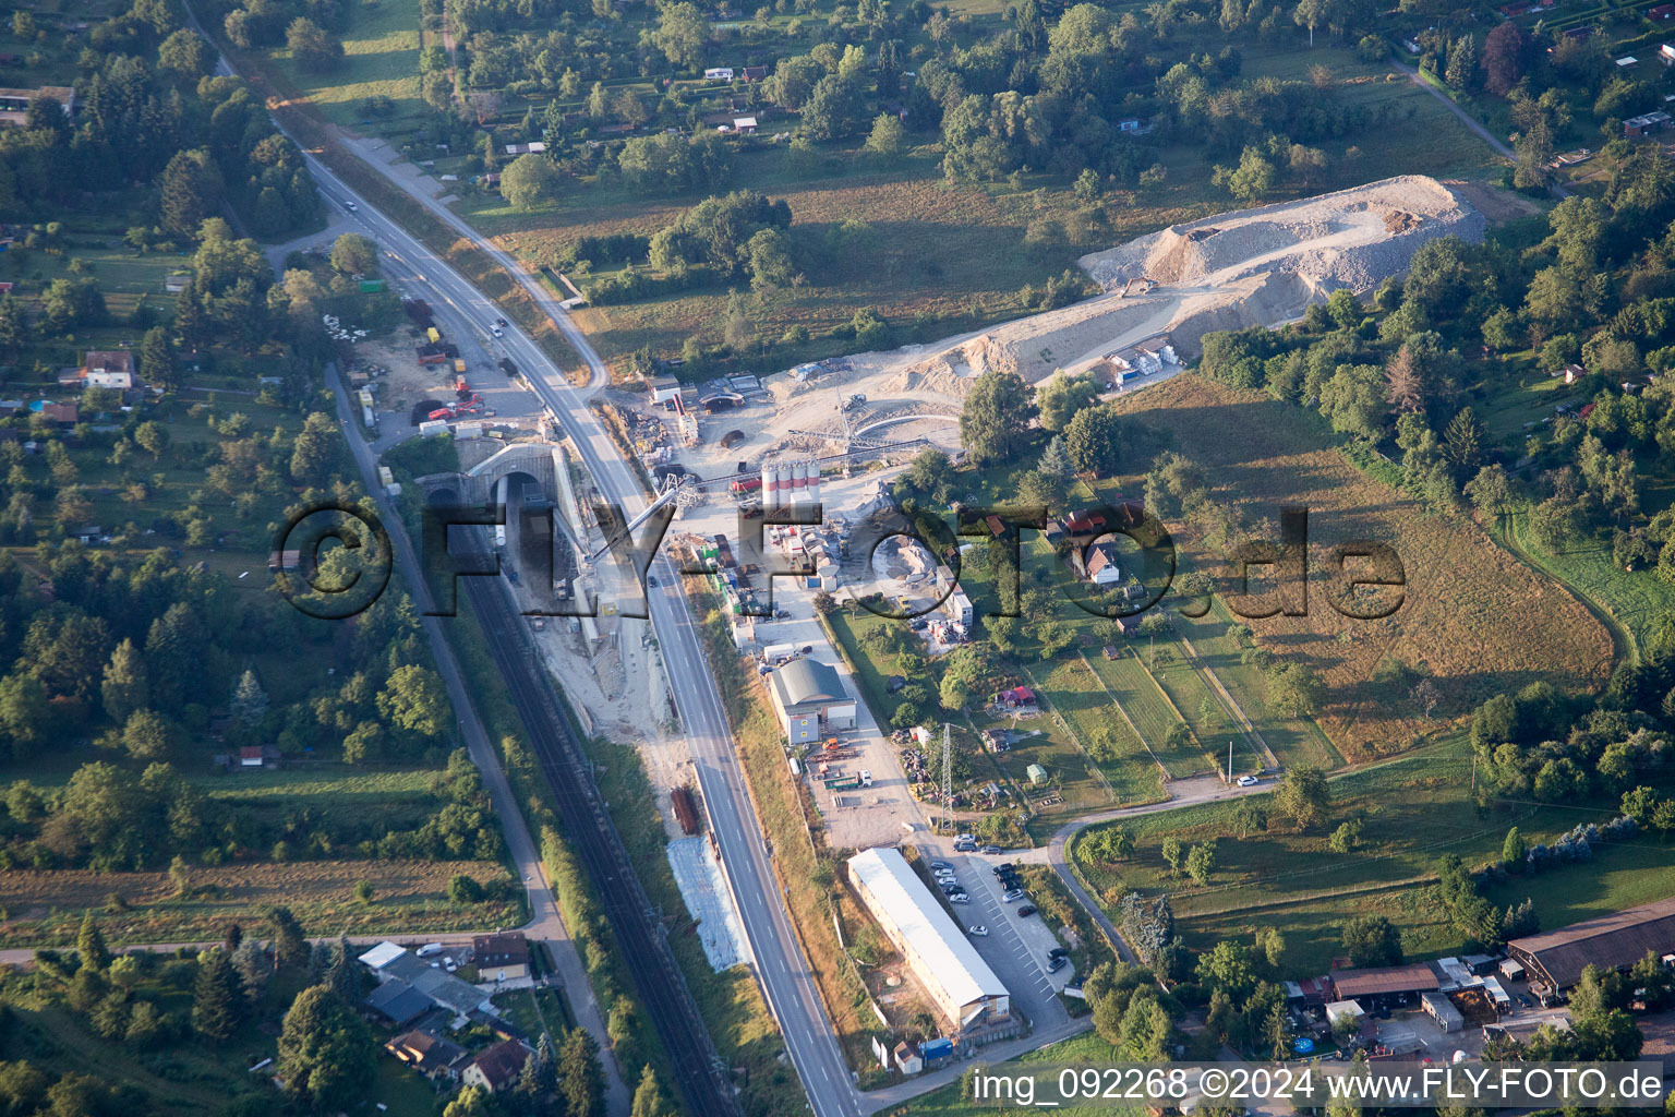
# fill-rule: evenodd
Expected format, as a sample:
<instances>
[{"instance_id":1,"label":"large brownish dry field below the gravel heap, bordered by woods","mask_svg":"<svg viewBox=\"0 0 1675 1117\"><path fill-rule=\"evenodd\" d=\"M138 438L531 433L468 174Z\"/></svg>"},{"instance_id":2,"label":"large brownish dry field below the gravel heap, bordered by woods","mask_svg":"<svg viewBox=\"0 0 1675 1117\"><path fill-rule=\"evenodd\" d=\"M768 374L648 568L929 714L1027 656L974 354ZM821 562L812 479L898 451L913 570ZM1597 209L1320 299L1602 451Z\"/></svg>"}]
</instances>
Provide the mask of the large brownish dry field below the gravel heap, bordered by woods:
<instances>
[{"instance_id":1,"label":"large brownish dry field below the gravel heap, bordered by woods","mask_svg":"<svg viewBox=\"0 0 1675 1117\"><path fill-rule=\"evenodd\" d=\"M1569 692L1603 683L1610 636L1564 588L1469 522L1429 516L1355 469L1317 415L1198 375L1119 407L1167 429L1176 449L1206 467L1216 499L1248 519L1276 522L1283 504L1308 507L1308 615L1248 623L1263 646L1322 673L1330 693L1320 723L1345 757L1400 750L1439 720L1536 680ZM1352 539L1389 543L1402 559L1405 598L1385 620L1345 618L1330 605L1330 551ZM1189 529L1176 543L1196 551ZM1372 685L1385 656L1434 680L1440 702L1430 718L1405 693Z\"/></svg>"}]
</instances>

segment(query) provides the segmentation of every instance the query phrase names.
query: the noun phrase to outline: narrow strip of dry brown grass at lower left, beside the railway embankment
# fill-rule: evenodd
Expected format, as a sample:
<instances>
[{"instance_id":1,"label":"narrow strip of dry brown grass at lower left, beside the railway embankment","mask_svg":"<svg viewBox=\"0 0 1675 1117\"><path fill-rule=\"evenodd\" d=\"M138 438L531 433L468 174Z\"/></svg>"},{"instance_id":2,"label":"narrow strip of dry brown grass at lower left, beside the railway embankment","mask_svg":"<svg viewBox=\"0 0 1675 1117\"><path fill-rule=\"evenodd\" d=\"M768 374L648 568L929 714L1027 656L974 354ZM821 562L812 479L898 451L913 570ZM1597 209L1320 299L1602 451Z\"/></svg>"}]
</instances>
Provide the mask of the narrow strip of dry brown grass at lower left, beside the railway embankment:
<instances>
[{"instance_id":1,"label":"narrow strip of dry brown grass at lower left, beside the railway embankment","mask_svg":"<svg viewBox=\"0 0 1675 1117\"><path fill-rule=\"evenodd\" d=\"M168 872L13 869L0 872L0 945L75 941L84 911L104 913L112 943L196 943L219 939L229 921L253 923L263 904L288 906L312 934L466 931L521 923L521 904L452 904L447 881L457 872L487 883L504 869L489 861L291 861L229 864L191 871L193 896L181 899ZM355 884L372 884L372 903ZM114 903L121 899L121 903Z\"/></svg>"}]
</instances>

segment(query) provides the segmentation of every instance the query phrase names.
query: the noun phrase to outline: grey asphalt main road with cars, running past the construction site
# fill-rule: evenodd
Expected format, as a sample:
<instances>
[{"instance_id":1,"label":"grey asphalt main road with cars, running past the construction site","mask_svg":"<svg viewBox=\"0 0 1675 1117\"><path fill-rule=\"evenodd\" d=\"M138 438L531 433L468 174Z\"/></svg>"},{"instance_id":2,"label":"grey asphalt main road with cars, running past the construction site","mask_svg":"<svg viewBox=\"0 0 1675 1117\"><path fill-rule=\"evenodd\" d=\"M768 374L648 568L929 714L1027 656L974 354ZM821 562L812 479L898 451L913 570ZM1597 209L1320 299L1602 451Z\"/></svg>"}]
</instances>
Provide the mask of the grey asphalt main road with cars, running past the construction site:
<instances>
[{"instance_id":1,"label":"grey asphalt main road with cars, running past the construction site","mask_svg":"<svg viewBox=\"0 0 1675 1117\"><path fill-rule=\"evenodd\" d=\"M328 204L342 209L352 226L358 224L387 251L394 251L436 295L432 303L442 300L481 327L494 322L499 308L492 300L395 221L374 209L318 159L308 156L308 166ZM568 320L561 320L559 325L568 327ZM568 327L566 335L573 328ZM585 347L586 340L581 340L578 352L591 355L591 348ZM620 502L630 517L645 507L645 496L628 462L563 370L516 325L506 328L504 337L496 338L494 345L516 362L558 417L600 492ZM595 368L595 378L601 373L603 367ZM873 1105L868 1105L854 1089L854 1078L821 1005L814 976L792 934L784 898L779 894L762 847L762 829L745 790L727 715L704 658L692 611L680 591L678 571L665 556L658 556L652 573L658 574L660 586L650 591L650 621L665 658L698 787L710 812L729 888L734 891L764 996L779 1022L811 1109L819 1117L858 1117Z\"/></svg>"}]
</instances>

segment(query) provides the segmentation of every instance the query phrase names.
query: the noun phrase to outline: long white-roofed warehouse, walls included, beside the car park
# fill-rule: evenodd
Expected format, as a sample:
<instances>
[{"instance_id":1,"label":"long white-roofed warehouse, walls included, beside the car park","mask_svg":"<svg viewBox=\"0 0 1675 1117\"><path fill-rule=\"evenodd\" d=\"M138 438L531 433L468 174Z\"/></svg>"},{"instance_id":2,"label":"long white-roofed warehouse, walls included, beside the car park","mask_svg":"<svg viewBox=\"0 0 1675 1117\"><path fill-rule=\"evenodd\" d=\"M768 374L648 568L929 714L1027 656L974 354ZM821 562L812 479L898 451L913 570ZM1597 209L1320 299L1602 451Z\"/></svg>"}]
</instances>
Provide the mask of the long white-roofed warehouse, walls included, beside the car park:
<instances>
[{"instance_id":1,"label":"long white-roofed warehouse, walls included, beside the car park","mask_svg":"<svg viewBox=\"0 0 1675 1117\"><path fill-rule=\"evenodd\" d=\"M849 857L849 881L901 951L936 1008L955 1025L1000 1020L1012 996L898 849Z\"/></svg>"}]
</instances>

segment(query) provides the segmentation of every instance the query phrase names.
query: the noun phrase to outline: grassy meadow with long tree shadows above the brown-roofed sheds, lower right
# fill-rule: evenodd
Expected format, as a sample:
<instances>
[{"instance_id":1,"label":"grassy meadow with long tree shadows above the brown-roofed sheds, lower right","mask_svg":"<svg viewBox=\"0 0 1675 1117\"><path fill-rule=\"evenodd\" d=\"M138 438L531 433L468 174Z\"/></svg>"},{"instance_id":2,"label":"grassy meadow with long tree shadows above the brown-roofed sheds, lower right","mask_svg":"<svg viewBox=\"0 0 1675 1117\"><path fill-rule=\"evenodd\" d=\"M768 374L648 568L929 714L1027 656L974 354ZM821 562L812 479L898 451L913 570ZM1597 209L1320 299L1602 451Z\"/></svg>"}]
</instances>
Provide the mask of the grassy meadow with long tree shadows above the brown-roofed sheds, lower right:
<instances>
[{"instance_id":1,"label":"grassy meadow with long tree shadows above the brown-roofed sheds, lower right","mask_svg":"<svg viewBox=\"0 0 1675 1117\"><path fill-rule=\"evenodd\" d=\"M1074 859L1095 896L1114 898L1114 886L1167 891L1193 950L1223 938L1248 939L1258 926L1278 928L1286 941L1286 976L1325 971L1340 953L1340 924L1360 914L1395 923L1409 955L1449 953L1464 939L1429 894L1442 854L1476 866L1499 856L1513 826L1529 842L1543 842L1616 814L1615 802L1543 806L1523 799L1496 799L1479 812L1471 777L1471 750L1462 735L1452 735L1419 754L1333 777L1332 819L1318 832L1295 832L1281 819L1266 831L1245 832L1238 807L1223 802L1126 819L1121 826L1137 839L1127 861L1090 864L1080 844ZM1667 774L1660 777L1667 780ZM1270 797L1253 799L1266 807ZM1327 837L1343 819L1362 819L1365 829L1350 852L1337 854ZM1188 846L1218 841L1208 888L1171 876L1161 854L1166 836ZM1554 867L1539 879L1511 876L1486 894L1501 908L1529 896L1541 926L1556 928L1665 896L1672 867L1668 847L1642 836L1601 846L1593 862Z\"/></svg>"}]
</instances>

